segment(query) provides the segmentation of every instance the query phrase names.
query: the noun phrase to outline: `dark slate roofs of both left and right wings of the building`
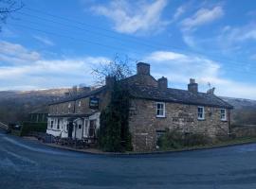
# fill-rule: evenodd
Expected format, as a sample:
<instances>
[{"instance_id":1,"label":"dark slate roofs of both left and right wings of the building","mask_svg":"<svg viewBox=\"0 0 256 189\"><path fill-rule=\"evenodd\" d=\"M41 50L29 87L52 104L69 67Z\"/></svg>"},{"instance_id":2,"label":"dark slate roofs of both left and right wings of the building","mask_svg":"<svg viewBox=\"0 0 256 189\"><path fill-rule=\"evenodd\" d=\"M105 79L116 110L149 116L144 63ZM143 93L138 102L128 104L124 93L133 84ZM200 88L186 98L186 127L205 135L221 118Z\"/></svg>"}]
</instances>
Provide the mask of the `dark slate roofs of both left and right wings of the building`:
<instances>
[{"instance_id":1,"label":"dark slate roofs of both left and right wings of the building","mask_svg":"<svg viewBox=\"0 0 256 189\"><path fill-rule=\"evenodd\" d=\"M201 106L210 106L210 107L219 107L226 109L233 109L228 102L222 100L218 96L214 94L206 94L206 93L192 93L187 90L173 89L167 88L165 90L160 90L157 87L149 86L149 85L138 85L136 82L129 82L132 80L132 77L127 77L123 81L128 84L126 85L129 89L130 94L136 98L149 99L149 100L158 100L165 102L174 102L174 103L182 103L189 105L201 105ZM153 77L154 78L154 77ZM154 78L155 79L155 78ZM126 82L128 81L128 82ZM123 84L125 84L123 83ZM83 94L78 94L76 96L64 97L58 101L52 102L49 105L64 103L68 101L75 101L77 99L81 99L83 97L87 97L94 94L100 94L102 91L106 90L107 87L103 86L91 92L86 92Z\"/></svg>"}]
</instances>

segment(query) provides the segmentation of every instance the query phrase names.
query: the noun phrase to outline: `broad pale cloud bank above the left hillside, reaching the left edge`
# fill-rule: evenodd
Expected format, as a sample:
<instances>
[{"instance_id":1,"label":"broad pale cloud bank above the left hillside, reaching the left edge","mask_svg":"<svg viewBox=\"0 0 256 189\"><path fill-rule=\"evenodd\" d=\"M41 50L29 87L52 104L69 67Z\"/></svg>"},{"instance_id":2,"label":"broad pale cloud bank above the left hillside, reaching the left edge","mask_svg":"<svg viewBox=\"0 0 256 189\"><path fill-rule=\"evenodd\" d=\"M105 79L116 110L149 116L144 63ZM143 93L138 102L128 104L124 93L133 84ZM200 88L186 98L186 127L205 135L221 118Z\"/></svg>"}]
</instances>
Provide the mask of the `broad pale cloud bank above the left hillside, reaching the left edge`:
<instances>
[{"instance_id":1,"label":"broad pale cloud bank above the left hillside, reaching the left edge","mask_svg":"<svg viewBox=\"0 0 256 189\"><path fill-rule=\"evenodd\" d=\"M93 84L91 68L109 61L90 56L46 60L36 51L8 42L0 43L0 60L0 90L45 89L82 82Z\"/></svg>"}]
</instances>

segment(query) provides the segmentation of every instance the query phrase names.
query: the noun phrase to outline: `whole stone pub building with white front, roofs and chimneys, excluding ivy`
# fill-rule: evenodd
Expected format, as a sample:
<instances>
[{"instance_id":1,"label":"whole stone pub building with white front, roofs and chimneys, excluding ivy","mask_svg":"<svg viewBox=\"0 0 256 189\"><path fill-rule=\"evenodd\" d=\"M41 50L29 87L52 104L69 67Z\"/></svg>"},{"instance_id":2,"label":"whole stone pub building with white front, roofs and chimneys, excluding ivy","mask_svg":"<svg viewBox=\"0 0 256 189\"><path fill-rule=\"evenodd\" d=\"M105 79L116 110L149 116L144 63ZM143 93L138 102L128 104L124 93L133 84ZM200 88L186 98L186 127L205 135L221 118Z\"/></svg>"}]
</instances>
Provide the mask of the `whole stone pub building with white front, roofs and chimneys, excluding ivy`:
<instances>
[{"instance_id":1,"label":"whole stone pub building with white front, roofs and chimneys, excluding ivy","mask_svg":"<svg viewBox=\"0 0 256 189\"><path fill-rule=\"evenodd\" d=\"M76 139L94 138L100 128L100 114L110 99L113 79L105 86L67 97L49 105L47 133ZM157 138L166 129L202 133L209 137L228 136L230 106L215 94L198 92L190 80L188 90L168 88L166 77L150 75L150 64L138 62L137 74L123 79L131 96L129 129L136 151L155 150Z\"/></svg>"}]
</instances>

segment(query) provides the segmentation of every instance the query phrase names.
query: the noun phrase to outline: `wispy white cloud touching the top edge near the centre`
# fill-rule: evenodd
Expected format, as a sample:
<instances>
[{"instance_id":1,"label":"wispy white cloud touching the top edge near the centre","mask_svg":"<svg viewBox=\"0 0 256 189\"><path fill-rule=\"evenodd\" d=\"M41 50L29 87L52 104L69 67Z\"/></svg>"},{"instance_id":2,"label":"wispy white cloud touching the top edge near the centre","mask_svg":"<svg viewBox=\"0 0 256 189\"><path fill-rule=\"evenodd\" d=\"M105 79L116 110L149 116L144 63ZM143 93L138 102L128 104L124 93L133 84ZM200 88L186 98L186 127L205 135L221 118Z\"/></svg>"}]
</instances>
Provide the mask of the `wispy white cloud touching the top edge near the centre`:
<instances>
[{"instance_id":1,"label":"wispy white cloud touching the top edge near the centre","mask_svg":"<svg viewBox=\"0 0 256 189\"><path fill-rule=\"evenodd\" d=\"M119 33L134 34L159 31L168 25L161 19L166 6L166 0L156 0L154 3L114 0L108 5L94 6L91 10L114 22L114 29Z\"/></svg>"}]
</instances>

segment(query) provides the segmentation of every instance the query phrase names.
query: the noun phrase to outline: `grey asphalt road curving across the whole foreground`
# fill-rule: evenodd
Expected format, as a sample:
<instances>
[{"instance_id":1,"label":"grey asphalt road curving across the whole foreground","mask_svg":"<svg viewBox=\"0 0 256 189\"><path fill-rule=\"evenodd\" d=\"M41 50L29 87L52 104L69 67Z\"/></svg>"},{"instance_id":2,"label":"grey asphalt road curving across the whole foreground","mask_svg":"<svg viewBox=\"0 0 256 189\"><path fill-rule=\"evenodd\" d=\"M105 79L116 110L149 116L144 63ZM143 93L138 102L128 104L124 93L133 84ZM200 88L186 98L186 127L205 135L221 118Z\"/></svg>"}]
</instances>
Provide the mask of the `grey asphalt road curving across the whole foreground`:
<instances>
[{"instance_id":1,"label":"grey asphalt road curving across the whole foreground","mask_svg":"<svg viewBox=\"0 0 256 189\"><path fill-rule=\"evenodd\" d=\"M256 188L256 144L158 155L72 152L0 132L0 188Z\"/></svg>"}]
</instances>

